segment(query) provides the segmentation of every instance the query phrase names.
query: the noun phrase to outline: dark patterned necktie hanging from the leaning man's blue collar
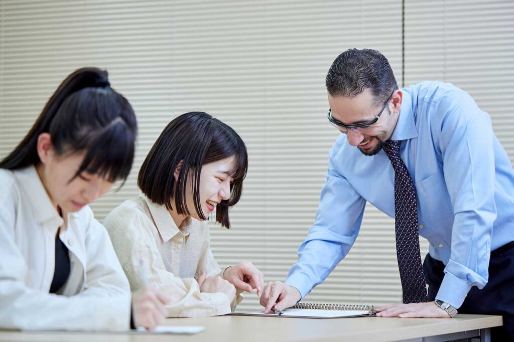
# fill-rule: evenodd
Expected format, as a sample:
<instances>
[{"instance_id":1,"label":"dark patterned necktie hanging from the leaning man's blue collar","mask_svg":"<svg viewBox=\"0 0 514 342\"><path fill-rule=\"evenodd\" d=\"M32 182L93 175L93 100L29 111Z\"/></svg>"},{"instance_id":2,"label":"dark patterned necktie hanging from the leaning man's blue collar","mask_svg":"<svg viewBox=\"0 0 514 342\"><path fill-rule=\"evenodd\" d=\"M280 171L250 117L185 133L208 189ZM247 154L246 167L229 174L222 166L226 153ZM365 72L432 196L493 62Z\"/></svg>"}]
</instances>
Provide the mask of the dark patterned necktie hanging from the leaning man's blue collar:
<instances>
[{"instance_id":1,"label":"dark patterned necktie hanging from the leaning man's blue collar","mask_svg":"<svg viewBox=\"0 0 514 342\"><path fill-rule=\"evenodd\" d=\"M388 140L383 150L394 168L396 256L404 303L427 302L427 287L419 252L416 188L400 158L401 141Z\"/></svg>"}]
</instances>

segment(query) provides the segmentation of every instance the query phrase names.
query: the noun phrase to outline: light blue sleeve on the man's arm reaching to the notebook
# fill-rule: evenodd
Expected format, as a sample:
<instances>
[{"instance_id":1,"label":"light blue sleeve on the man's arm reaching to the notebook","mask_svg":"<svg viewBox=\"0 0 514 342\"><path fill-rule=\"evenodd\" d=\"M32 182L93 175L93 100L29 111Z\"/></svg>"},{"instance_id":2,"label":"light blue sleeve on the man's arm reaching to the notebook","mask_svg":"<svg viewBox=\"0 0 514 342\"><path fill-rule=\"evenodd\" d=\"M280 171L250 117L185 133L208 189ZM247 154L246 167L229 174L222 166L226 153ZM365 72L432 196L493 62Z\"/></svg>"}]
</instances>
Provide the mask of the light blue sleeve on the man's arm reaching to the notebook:
<instances>
[{"instance_id":1,"label":"light blue sleeve on the man's arm reaching to the notebook","mask_svg":"<svg viewBox=\"0 0 514 342\"><path fill-rule=\"evenodd\" d=\"M350 251L359 233L365 200L337 170L336 143L331 149L326 182L314 225L298 249L286 283L303 297L321 283Z\"/></svg>"}]
</instances>

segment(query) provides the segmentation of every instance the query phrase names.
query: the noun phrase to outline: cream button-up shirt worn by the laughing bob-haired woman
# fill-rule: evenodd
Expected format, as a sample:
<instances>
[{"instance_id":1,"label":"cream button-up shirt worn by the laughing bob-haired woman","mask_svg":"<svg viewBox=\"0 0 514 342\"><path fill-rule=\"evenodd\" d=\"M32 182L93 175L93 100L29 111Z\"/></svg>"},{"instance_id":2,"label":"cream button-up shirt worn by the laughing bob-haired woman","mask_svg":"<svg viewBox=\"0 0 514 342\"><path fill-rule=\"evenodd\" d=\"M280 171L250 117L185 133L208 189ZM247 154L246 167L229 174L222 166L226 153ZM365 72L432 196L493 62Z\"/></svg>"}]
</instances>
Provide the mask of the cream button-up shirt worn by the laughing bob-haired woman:
<instances>
[{"instance_id":1,"label":"cream button-up shirt worn by the laughing bob-haired woman","mask_svg":"<svg viewBox=\"0 0 514 342\"><path fill-rule=\"evenodd\" d=\"M177 227L166 207L141 196L127 200L104 221L132 291L142 287L141 262L148 283L172 297L168 317L204 317L231 312L225 293L200 292L194 279L202 270L221 275L210 249L209 225L194 218ZM239 293L240 291L238 291ZM237 296L236 302L242 297Z\"/></svg>"}]
</instances>

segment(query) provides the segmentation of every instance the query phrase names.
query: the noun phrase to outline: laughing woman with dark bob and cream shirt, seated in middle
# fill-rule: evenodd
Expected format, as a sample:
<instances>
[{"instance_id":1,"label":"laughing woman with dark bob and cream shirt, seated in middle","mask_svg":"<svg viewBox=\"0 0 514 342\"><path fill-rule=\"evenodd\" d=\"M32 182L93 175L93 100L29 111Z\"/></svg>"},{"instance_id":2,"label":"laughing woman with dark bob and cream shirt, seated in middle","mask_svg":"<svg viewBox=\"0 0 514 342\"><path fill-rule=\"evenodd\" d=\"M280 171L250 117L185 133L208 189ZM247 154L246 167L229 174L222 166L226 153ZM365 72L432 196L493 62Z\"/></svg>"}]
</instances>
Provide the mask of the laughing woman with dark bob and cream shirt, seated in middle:
<instances>
[{"instance_id":1,"label":"laughing woman with dark bob and cream shirt, seated in middle","mask_svg":"<svg viewBox=\"0 0 514 342\"><path fill-rule=\"evenodd\" d=\"M219 268L210 249L208 217L230 228L228 211L241 197L248 168L246 146L225 123L205 112L171 121L138 175L142 195L103 221L133 291L149 283L168 294L168 317L230 313L239 293L263 288L251 262Z\"/></svg>"}]
</instances>

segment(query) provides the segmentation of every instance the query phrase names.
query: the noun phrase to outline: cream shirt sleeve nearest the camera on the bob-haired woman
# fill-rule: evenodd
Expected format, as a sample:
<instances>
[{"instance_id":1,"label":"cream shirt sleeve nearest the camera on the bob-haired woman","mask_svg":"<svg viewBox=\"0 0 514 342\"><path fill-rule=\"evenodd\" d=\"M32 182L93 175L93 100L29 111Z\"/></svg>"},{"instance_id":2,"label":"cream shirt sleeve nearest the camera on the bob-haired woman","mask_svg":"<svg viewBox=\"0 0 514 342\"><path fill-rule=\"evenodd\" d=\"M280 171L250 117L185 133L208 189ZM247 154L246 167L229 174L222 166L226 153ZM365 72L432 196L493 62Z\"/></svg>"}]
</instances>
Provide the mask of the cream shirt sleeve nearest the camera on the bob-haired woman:
<instances>
[{"instance_id":1,"label":"cream shirt sleeve nearest the camera on the bob-haired woman","mask_svg":"<svg viewBox=\"0 0 514 342\"><path fill-rule=\"evenodd\" d=\"M144 213L118 207L104 224L132 291L143 286L139 265L149 265L148 284L172 299L166 306L168 317L206 317L230 313L230 303L224 293L202 293L194 278L176 277L166 270L152 234L153 222Z\"/></svg>"}]
</instances>

